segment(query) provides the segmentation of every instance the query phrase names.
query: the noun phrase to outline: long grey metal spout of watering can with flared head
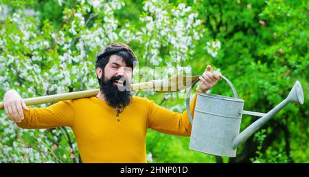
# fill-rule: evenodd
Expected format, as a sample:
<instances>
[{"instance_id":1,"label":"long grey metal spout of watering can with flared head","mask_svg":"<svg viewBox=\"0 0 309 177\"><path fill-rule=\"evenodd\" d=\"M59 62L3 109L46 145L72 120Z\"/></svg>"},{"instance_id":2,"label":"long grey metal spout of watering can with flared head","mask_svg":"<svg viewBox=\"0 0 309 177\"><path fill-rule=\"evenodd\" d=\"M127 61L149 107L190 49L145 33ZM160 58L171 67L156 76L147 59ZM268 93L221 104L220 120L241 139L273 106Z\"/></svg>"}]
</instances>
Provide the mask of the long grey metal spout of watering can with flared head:
<instances>
[{"instance_id":1,"label":"long grey metal spout of watering can with flared head","mask_svg":"<svg viewBox=\"0 0 309 177\"><path fill-rule=\"evenodd\" d=\"M269 119L275 115L279 110L282 110L282 108L288 104L288 103L304 103L304 92L301 87L301 83L299 81L296 81L294 84L292 90L290 90L290 93L288 94L288 97L276 105L273 110L266 113L264 116L259 118L257 121L249 125L244 131L242 131L240 134L238 134L235 138L233 138L233 149L236 149L240 144L244 143L245 140L247 140L254 132L256 132L260 127L262 127Z\"/></svg>"}]
</instances>

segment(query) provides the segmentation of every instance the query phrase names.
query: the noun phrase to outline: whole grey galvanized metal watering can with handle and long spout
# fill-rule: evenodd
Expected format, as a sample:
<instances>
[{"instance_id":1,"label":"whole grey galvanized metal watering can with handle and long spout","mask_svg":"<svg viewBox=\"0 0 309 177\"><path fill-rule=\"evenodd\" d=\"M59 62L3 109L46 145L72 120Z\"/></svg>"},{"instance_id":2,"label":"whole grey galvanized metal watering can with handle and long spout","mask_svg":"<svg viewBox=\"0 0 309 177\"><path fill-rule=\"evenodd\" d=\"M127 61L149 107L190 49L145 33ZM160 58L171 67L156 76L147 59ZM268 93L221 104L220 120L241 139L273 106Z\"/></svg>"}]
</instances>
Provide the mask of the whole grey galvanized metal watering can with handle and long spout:
<instances>
[{"instance_id":1,"label":"whole grey galvanized metal watering can with handle and long spout","mask_svg":"<svg viewBox=\"0 0 309 177\"><path fill-rule=\"evenodd\" d=\"M296 81L288 97L276 105L268 113L244 111L244 100L238 98L235 87L225 76L221 77L229 83L234 97L216 94L198 93L194 110L194 119L190 112L190 94L198 79L192 83L187 93L187 114L192 124L190 149L215 156L235 157L237 147L264 125L271 116L290 103L304 103L304 92L301 83ZM260 116L240 133L242 114Z\"/></svg>"}]
</instances>

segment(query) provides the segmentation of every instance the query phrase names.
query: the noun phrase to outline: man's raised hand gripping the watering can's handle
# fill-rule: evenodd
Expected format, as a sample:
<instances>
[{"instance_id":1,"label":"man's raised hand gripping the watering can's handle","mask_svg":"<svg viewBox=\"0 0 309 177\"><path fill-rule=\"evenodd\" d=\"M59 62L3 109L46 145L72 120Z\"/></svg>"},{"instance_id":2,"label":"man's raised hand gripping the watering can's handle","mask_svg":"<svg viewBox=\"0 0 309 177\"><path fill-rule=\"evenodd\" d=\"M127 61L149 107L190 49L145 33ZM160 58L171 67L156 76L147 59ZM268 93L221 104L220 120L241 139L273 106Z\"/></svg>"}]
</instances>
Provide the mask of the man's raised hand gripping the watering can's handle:
<instances>
[{"instance_id":1,"label":"man's raised hand gripping the watering can's handle","mask_svg":"<svg viewBox=\"0 0 309 177\"><path fill-rule=\"evenodd\" d=\"M198 79L201 81L201 85L198 86L199 93L205 93L207 90L214 87L217 81L221 81L221 77L216 72L211 73L211 65L207 65L205 72Z\"/></svg>"}]
</instances>

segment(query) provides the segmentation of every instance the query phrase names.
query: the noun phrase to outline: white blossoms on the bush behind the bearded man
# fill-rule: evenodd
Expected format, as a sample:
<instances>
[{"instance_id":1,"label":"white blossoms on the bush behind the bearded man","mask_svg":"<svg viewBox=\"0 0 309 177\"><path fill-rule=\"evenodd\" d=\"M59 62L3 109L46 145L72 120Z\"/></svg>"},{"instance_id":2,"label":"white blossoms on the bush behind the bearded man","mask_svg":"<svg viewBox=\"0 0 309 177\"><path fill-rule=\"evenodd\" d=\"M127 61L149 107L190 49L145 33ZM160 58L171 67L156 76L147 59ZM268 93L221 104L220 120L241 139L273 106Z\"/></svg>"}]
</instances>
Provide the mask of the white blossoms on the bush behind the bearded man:
<instances>
[{"instance_id":1,"label":"white blossoms on the bush behind the bearded man","mask_svg":"<svg viewBox=\"0 0 309 177\"><path fill-rule=\"evenodd\" d=\"M58 3L63 6L67 2L58 1ZM165 65L172 68L179 65L181 61L189 59L190 55L194 53L194 43L201 39L203 32L205 32L201 28L201 21L198 19L196 10L185 6L185 3L174 7L166 0L145 1L144 12L142 12L145 15L139 17L141 28L138 29L130 21L121 24L119 21L122 19L115 16L115 12L125 10L122 8L124 6L124 1L118 0L78 0L76 6L71 7L74 9L71 11L72 13L70 12L70 15L64 13L60 19L67 28L63 26L57 29L48 28L44 32L41 30L43 23L36 18L39 14L34 10L16 10L3 16L10 23L2 21L5 25L0 29L0 48L1 52L3 51L0 53L0 82L2 84L0 92L15 88L21 92L23 98L29 98L68 92L68 87L73 87L74 91L98 88L93 62L95 53L107 43L115 41L129 45L131 42L137 42L140 46L133 50L137 50L139 60L147 61L148 66L160 65L164 61ZM0 5L0 10L3 10L3 5ZM0 14L2 12L0 11ZM93 17L94 24L87 23L86 25L89 17ZM12 28L14 30L7 32L6 30L10 28L6 28L6 26L10 24L18 28ZM14 50L8 48L6 39L16 43L12 47ZM220 48L220 44L209 45L209 48L213 47ZM163 59L160 53L162 48L167 50L167 58ZM133 74L137 74L139 71L136 68ZM154 70L149 70L149 76L153 77L154 75ZM17 81L17 76L21 81ZM133 80L137 78L135 77ZM133 94L140 96L154 93L154 90L133 92ZM168 94L166 97L172 96L176 96L176 94ZM37 107L47 107L48 105L37 105ZM173 109L180 109L179 107L181 106L178 105ZM48 146L52 145L52 140L62 137L63 134L59 129L53 130L55 136L51 139L43 136L48 134L45 129L20 129L14 123L10 123L5 114L1 116L0 123L5 128L0 131L5 138L1 138L0 142L0 163L4 161L1 158L4 151L10 157L7 160L13 162L25 163L27 160L30 163L40 163L49 162L46 158L54 159L52 155L41 151L47 151ZM71 129L68 131L73 135ZM34 146L37 149L23 146L25 143L16 138L23 136L23 134L35 138L37 142L34 143ZM16 149L5 147L12 137L16 138ZM77 149L74 142L73 150ZM27 154L27 159L20 158L23 153ZM19 155L13 156L12 154ZM58 157L68 158L65 154ZM152 161L151 153L148 154L148 161ZM54 160L50 162L54 162Z\"/></svg>"}]
</instances>

